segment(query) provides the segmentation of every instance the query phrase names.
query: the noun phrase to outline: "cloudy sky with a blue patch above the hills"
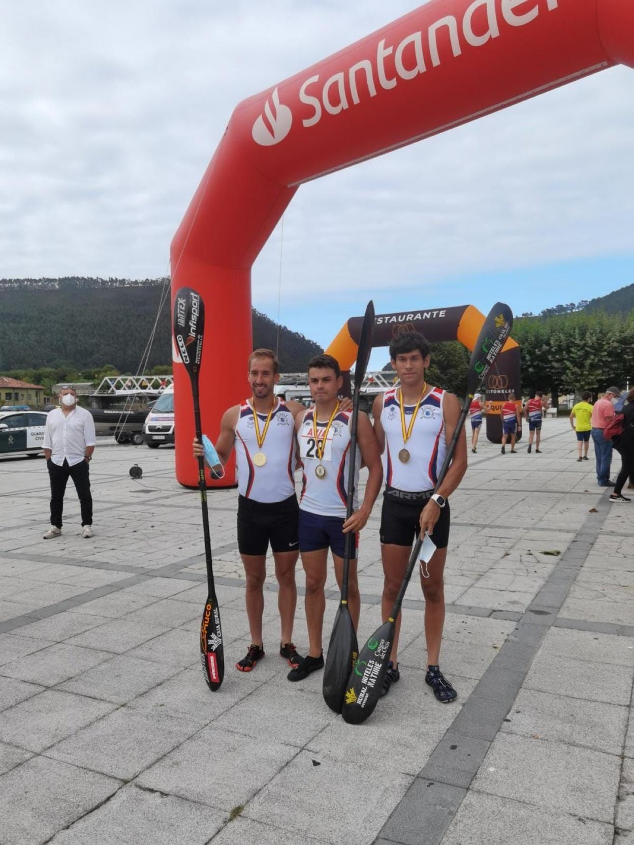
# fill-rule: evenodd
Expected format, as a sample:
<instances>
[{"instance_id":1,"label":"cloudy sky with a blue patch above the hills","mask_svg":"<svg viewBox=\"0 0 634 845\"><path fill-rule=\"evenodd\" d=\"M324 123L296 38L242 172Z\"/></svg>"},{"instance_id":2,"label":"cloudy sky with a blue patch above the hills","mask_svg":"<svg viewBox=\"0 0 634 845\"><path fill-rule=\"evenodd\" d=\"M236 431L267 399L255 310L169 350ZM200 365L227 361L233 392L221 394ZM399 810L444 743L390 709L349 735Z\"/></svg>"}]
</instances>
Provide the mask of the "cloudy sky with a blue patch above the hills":
<instances>
[{"instance_id":1,"label":"cloudy sky with a blue patch above the hills","mask_svg":"<svg viewBox=\"0 0 634 845\"><path fill-rule=\"evenodd\" d=\"M166 275L234 106L412 8L5 4L0 275ZM327 345L369 296L522 313L630 284L633 105L634 71L612 68L304 185L254 265L254 305L277 319L281 270L281 321Z\"/></svg>"}]
</instances>

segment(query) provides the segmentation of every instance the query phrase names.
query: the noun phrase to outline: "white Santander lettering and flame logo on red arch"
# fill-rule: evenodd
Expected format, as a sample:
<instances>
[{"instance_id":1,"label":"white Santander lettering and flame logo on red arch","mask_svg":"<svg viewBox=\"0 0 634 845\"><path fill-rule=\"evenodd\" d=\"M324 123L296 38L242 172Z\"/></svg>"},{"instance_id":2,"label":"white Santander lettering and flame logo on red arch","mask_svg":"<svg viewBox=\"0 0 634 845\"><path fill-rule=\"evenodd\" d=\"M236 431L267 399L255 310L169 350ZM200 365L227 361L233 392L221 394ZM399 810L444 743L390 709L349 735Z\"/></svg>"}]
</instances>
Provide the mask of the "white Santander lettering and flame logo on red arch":
<instances>
[{"instance_id":1,"label":"white Santander lettering and flame logo on red arch","mask_svg":"<svg viewBox=\"0 0 634 845\"><path fill-rule=\"evenodd\" d=\"M559 0L534 0L531 8L526 8L527 3L528 0L501 0L501 3L498 0L474 0L465 10L462 20L459 16L447 14L426 30L407 35L397 45L386 45L386 39L382 38L377 44L376 57L362 58L323 83L319 74L309 77L299 91L301 104L312 110L302 118L302 126L316 126L323 112L339 115L358 106L362 99L376 97L377 88L391 90L400 81L416 79L441 63L462 55L470 47L485 46L501 36L501 24L507 25L507 32L530 24L540 13L558 8ZM388 57L392 60L387 66ZM260 146L274 146L286 138L292 124L293 112L280 102L279 90L275 88L264 103L263 114L253 123L252 138Z\"/></svg>"}]
</instances>

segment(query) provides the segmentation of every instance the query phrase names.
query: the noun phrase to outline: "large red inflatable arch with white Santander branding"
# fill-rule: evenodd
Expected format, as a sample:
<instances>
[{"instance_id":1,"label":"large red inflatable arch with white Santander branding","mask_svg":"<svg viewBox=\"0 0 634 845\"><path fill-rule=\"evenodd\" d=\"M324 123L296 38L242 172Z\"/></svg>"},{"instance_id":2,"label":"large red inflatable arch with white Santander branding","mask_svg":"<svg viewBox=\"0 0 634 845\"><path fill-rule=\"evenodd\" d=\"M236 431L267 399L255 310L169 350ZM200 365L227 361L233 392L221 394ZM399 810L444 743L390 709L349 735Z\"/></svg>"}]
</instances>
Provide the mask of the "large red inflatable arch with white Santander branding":
<instances>
[{"instance_id":1,"label":"large red inflatable arch with white Santander branding","mask_svg":"<svg viewBox=\"0 0 634 845\"><path fill-rule=\"evenodd\" d=\"M634 67L632 0L435 0L236 106L171 243L172 298L207 302L204 430L248 390L251 266L301 183L618 63ZM174 381L176 477L194 486L178 362Z\"/></svg>"}]
</instances>

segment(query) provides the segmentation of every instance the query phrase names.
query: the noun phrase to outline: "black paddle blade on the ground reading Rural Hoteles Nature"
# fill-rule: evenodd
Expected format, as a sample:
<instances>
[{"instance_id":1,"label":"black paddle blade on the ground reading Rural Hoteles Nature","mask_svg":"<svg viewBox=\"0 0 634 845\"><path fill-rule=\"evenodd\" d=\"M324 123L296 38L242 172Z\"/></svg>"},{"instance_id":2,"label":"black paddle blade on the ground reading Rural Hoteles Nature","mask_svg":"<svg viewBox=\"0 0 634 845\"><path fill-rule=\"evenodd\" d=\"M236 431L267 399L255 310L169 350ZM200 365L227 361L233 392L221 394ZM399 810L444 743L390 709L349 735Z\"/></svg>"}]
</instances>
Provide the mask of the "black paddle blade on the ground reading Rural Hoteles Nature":
<instances>
[{"instance_id":1,"label":"black paddle blade on the ground reading Rural Hoteles Nature","mask_svg":"<svg viewBox=\"0 0 634 845\"><path fill-rule=\"evenodd\" d=\"M384 622L361 648L345 688L344 706L341 710L344 722L360 725L377 706L387 673L395 630L394 621Z\"/></svg>"}]
</instances>

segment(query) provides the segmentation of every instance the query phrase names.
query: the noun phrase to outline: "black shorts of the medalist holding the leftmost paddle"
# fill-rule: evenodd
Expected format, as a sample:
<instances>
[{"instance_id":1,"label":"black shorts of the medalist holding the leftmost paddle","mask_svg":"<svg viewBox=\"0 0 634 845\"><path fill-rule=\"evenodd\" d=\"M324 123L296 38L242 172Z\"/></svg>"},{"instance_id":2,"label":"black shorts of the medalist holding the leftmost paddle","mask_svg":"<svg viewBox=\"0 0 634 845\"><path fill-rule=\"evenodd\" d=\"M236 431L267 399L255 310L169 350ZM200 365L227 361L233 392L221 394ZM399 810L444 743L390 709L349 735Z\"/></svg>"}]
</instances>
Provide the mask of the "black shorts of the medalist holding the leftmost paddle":
<instances>
[{"instance_id":1,"label":"black shorts of the medalist holding the leftmost paddle","mask_svg":"<svg viewBox=\"0 0 634 845\"><path fill-rule=\"evenodd\" d=\"M266 554L299 549L300 508L295 493L281 502L255 502L238 496L238 550L241 554Z\"/></svg>"}]
</instances>

